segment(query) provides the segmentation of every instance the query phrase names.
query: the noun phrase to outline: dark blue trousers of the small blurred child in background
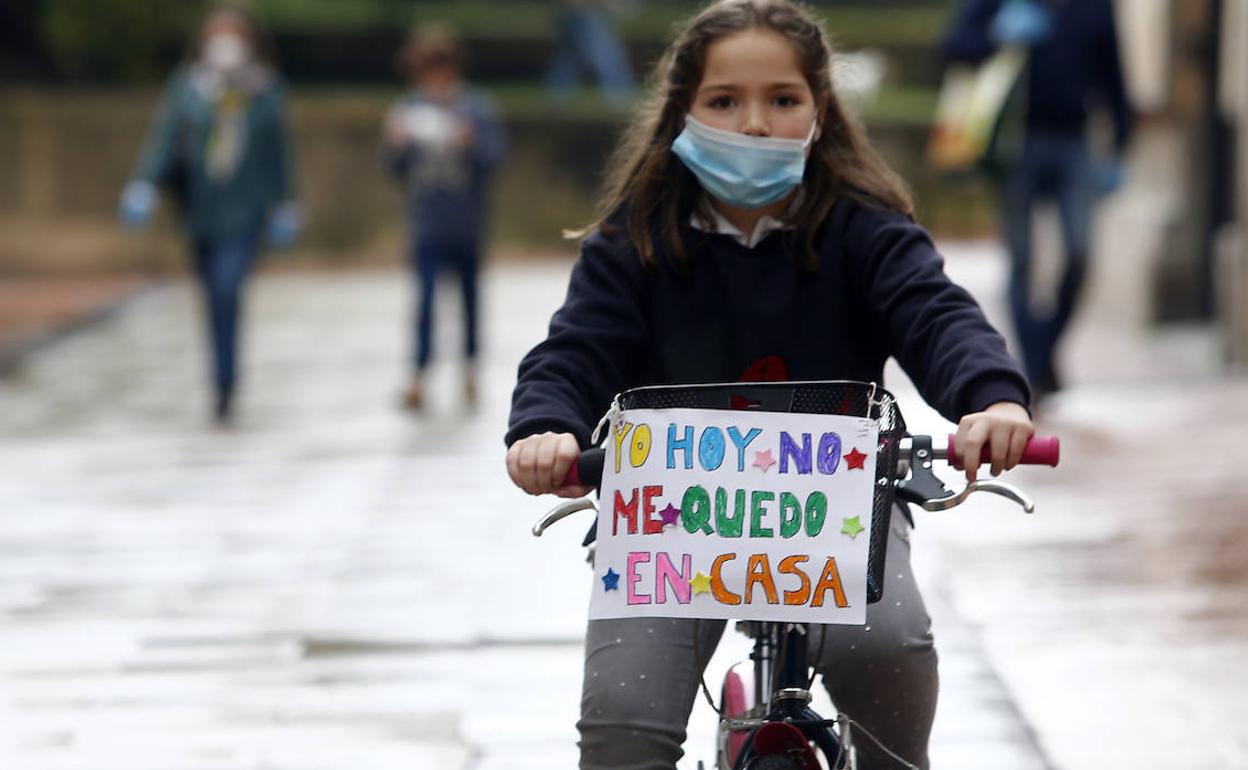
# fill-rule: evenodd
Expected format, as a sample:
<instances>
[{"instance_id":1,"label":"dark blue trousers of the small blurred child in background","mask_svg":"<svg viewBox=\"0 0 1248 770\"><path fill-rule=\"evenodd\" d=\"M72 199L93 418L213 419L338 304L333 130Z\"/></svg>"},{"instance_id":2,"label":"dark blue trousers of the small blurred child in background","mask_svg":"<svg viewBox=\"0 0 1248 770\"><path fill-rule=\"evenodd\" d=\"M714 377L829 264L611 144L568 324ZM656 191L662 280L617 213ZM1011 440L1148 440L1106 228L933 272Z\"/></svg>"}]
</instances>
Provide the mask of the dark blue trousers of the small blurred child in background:
<instances>
[{"instance_id":1,"label":"dark blue trousers of the small blurred child in background","mask_svg":"<svg viewBox=\"0 0 1248 770\"><path fill-rule=\"evenodd\" d=\"M459 276L464 313L464 357L477 358L477 275L480 245L477 242L417 241L412 250L419 283L416 322L416 369L423 372L433 357L433 296L438 276L452 270Z\"/></svg>"}]
</instances>

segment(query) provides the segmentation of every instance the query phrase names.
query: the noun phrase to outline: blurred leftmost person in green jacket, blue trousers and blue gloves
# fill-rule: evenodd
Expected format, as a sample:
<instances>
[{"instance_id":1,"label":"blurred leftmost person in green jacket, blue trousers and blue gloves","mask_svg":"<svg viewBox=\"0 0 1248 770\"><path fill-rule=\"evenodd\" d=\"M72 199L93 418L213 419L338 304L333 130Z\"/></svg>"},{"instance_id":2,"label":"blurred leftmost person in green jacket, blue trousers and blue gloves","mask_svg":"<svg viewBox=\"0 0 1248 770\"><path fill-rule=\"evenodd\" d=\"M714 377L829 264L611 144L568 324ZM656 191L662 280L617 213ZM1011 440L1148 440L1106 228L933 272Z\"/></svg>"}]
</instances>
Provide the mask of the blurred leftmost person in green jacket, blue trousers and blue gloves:
<instances>
[{"instance_id":1,"label":"blurred leftmost person in green jacket, blue trousers and blue gloves","mask_svg":"<svg viewBox=\"0 0 1248 770\"><path fill-rule=\"evenodd\" d=\"M258 56L258 29L241 6L203 20L192 60L165 86L120 216L151 220L157 190L175 198L203 287L216 387L215 417L232 416L242 286L262 241L290 246L300 230L282 82Z\"/></svg>"}]
</instances>

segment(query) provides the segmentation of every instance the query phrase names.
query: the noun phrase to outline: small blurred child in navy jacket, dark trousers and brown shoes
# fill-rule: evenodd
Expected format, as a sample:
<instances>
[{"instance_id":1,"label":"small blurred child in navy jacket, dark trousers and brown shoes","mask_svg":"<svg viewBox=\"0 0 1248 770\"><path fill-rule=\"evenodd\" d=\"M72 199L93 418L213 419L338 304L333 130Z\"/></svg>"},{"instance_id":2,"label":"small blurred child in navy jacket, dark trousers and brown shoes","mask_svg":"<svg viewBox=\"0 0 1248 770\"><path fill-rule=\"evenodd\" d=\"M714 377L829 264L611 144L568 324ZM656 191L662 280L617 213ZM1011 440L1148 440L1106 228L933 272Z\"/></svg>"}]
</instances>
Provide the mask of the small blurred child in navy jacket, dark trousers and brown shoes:
<instances>
[{"instance_id":1,"label":"small blurred child in navy jacket, dark trousers and brown shoes","mask_svg":"<svg viewBox=\"0 0 1248 770\"><path fill-rule=\"evenodd\" d=\"M386 161L407 190L409 260L417 276L416 349L403 406L426 402L438 275L459 276L464 317L464 401L477 402L478 272L488 230L489 185L505 137L495 109L463 77L463 49L446 26L417 27L399 51L411 90L386 116Z\"/></svg>"}]
</instances>

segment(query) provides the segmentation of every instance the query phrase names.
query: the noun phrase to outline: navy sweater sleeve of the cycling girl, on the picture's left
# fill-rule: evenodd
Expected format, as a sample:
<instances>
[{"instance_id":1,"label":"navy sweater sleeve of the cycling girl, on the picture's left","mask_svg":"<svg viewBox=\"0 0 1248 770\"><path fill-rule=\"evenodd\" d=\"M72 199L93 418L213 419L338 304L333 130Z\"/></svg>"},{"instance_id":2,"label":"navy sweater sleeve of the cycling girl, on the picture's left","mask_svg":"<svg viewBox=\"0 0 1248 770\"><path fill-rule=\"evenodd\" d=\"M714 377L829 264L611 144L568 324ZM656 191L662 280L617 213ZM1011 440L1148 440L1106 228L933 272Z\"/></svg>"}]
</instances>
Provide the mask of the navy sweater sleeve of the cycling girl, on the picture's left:
<instances>
[{"instance_id":1,"label":"navy sweater sleeve of the cycling girl, on the picture's left","mask_svg":"<svg viewBox=\"0 0 1248 770\"><path fill-rule=\"evenodd\" d=\"M507 446L544 431L589 446L612 398L635 384L649 356L648 295L630 247L597 231L585 240L547 338L520 362Z\"/></svg>"}]
</instances>

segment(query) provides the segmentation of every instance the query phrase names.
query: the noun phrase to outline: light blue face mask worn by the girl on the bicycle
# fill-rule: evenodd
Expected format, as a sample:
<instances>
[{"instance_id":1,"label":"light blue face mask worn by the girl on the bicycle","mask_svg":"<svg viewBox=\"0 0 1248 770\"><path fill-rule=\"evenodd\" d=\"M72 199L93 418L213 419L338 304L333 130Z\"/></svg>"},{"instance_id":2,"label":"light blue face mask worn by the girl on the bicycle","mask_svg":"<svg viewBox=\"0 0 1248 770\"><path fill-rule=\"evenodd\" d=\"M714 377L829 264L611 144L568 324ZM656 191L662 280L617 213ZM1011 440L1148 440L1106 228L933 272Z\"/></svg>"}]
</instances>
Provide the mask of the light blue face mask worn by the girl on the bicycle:
<instances>
[{"instance_id":1,"label":"light blue face mask worn by the girl on the bicycle","mask_svg":"<svg viewBox=\"0 0 1248 770\"><path fill-rule=\"evenodd\" d=\"M671 151L713 197L735 208L761 208L801 183L815 127L805 140L773 139L711 129L686 115Z\"/></svg>"}]
</instances>

